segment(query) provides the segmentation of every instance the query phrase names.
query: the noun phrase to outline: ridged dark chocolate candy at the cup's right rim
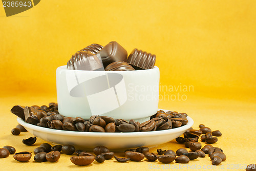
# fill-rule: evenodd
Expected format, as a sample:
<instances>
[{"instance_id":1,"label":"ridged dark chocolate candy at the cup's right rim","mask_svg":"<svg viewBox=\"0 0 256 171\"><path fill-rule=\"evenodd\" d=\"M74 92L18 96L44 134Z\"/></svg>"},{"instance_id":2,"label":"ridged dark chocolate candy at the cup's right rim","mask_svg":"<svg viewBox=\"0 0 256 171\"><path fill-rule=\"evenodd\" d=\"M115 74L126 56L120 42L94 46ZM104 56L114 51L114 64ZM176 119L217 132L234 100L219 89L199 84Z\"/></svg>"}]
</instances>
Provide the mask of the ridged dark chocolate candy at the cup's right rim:
<instances>
[{"instance_id":1,"label":"ridged dark chocolate candy at the cup's right rim","mask_svg":"<svg viewBox=\"0 0 256 171\"><path fill-rule=\"evenodd\" d=\"M156 55L134 49L127 58L127 62L139 69L152 69L155 66Z\"/></svg>"}]
</instances>

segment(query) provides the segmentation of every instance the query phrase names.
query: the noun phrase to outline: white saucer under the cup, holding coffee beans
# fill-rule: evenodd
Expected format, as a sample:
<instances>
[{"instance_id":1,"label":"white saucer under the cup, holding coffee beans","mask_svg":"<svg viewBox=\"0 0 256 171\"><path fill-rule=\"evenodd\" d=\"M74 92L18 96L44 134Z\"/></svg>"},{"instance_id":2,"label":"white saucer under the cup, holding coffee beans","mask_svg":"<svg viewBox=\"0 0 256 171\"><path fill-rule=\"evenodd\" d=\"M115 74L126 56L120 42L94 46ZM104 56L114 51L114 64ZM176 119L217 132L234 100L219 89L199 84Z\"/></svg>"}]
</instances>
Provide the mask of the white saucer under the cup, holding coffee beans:
<instances>
[{"instance_id":1,"label":"white saucer under the cup, holding coffee beans","mask_svg":"<svg viewBox=\"0 0 256 171\"><path fill-rule=\"evenodd\" d=\"M167 111L167 110L164 110ZM133 132L133 133L93 133L54 130L26 123L19 117L17 121L23 125L28 132L43 140L54 144L71 144L82 149L93 149L97 145L104 145L114 151L123 151L127 148L140 146L152 147L158 144L172 141L189 129L194 121L187 117L188 123L175 129Z\"/></svg>"}]
</instances>

